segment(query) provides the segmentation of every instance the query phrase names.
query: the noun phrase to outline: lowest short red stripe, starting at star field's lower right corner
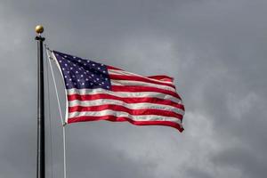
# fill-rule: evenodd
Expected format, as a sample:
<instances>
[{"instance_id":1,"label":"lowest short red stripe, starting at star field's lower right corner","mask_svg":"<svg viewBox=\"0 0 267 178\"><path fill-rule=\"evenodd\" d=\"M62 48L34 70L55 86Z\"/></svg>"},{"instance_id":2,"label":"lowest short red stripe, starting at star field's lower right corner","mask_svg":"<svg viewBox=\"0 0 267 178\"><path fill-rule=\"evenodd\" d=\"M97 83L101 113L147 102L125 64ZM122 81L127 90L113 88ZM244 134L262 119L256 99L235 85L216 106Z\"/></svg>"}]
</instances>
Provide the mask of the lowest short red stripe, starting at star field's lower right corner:
<instances>
[{"instance_id":1,"label":"lowest short red stripe, starting at star field's lower right corner","mask_svg":"<svg viewBox=\"0 0 267 178\"><path fill-rule=\"evenodd\" d=\"M140 86L140 85L112 85L111 90L113 92L157 92L157 93L165 93L174 96L181 100L181 97L178 93L174 93L172 91L152 87L152 86Z\"/></svg>"}]
</instances>

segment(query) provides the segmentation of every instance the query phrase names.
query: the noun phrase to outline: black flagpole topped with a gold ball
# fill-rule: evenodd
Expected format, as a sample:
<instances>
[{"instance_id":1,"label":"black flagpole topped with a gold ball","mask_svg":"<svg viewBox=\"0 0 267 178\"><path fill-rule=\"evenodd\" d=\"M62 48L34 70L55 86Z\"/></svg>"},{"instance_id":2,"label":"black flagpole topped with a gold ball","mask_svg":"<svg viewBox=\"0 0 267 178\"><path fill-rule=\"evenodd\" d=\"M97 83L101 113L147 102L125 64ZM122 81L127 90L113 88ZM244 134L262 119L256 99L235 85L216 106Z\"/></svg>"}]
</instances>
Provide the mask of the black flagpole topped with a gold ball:
<instances>
[{"instance_id":1,"label":"black flagpole topped with a gold ball","mask_svg":"<svg viewBox=\"0 0 267 178\"><path fill-rule=\"evenodd\" d=\"M44 154L44 56L43 42L44 37L41 36L44 28L40 25L36 26L36 41L38 45L38 87L37 87L37 178L45 177L45 154Z\"/></svg>"}]
</instances>

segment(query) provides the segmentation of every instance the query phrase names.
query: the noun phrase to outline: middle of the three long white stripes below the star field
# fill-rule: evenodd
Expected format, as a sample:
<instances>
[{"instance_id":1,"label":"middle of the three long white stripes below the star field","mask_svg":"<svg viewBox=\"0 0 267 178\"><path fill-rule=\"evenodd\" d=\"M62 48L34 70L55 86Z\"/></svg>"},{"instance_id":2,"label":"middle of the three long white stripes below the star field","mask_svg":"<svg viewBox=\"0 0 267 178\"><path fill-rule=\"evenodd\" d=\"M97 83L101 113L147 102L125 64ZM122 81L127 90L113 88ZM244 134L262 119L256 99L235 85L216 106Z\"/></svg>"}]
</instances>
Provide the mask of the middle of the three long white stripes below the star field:
<instances>
[{"instance_id":1,"label":"middle of the three long white stripes below the star field","mask_svg":"<svg viewBox=\"0 0 267 178\"><path fill-rule=\"evenodd\" d=\"M180 115L184 114L184 111L182 109L177 109L169 105L155 104L150 102L126 103L124 101L106 100L106 99L99 99L94 101L77 101L77 100L69 101L69 107L74 107L74 106L92 107L92 106L101 106L105 104L119 105L127 109L160 109L160 110L175 112Z\"/></svg>"}]
</instances>

